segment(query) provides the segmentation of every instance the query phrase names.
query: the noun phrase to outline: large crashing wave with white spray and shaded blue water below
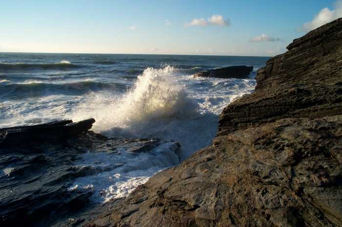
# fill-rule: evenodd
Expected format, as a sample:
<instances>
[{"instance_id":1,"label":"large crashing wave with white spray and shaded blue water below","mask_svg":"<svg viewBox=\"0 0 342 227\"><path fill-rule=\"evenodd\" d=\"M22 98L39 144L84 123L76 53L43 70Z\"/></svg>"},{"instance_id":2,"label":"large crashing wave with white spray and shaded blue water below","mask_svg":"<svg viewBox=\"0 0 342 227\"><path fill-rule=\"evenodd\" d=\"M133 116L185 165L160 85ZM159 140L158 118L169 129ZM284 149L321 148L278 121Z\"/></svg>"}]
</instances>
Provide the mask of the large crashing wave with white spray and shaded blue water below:
<instances>
[{"instance_id":1,"label":"large crashing wave with white spray and shaded blue water below","mask_svg":"<svg viewBox=\"0 0 342 227\"><path fill-rule=\"evenodd\" d=\"M147 68L124 95L89 94L69 117L75 121L93 117L92 129L108 136L178 141L180 156L186 158L210 144L218 116L200 113L198 103L178 83L178 73L171 66Z\"/></svg>"}]
</instances>

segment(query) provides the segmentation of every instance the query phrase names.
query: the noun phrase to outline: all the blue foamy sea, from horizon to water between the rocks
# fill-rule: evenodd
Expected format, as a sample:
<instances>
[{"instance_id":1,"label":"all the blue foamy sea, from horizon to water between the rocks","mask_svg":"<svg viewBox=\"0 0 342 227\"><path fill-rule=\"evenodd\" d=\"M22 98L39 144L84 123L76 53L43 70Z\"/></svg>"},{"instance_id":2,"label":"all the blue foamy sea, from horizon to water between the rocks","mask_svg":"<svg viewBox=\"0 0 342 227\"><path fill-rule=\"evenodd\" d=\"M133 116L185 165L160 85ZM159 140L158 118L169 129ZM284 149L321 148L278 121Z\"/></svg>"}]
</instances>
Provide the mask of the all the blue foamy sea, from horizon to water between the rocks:
<instances>
[{"instance_id":1,"label":"all the blue foamy sea, from horizon to water between the rocks","mask_svg":"<svg viewBox=\"0 0 342 227\"><path fill-rule=\"evenodd\" d=\"M108 137L171 141L139 155L125 149L80 154L73 165L102 170L73 180L68 190L91 190L94 202L107 202L209 145L222 109L253 92L256 70L268 59L0 53L0 127L92 117L92 130ZM231 65L253 65L254 71L249 79L193 78ZM108 168L117 163L123 165ZM7 175L11 166L1 168Z\"/></svg>"}]
</instances>

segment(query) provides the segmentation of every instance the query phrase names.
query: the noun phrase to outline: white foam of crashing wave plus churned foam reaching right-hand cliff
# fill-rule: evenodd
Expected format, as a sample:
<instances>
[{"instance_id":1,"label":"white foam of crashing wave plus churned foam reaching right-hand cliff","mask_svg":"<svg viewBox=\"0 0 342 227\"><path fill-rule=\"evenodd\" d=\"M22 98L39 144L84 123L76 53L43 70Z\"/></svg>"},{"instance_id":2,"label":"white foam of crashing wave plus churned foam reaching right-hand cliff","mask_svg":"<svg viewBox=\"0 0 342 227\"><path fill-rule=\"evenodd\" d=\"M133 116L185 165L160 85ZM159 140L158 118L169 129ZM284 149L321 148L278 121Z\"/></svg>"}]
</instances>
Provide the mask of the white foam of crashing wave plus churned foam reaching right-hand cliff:
<instances>
[{"instance_id":1,"label":"white foam of crashing wave plus churned foam reaching right-hand cliff","mask_svg":"<svg viewBox=\"0 0 342 227\"><path fill-rule=\"evenodd\" d=\"M211 143L219 113L254 85L252 80L193 79L171 66L147 68L126 94L91 93L68 118L93 117L92 130L108 136L178 141L184 160Z\"/></svg>"}]
</instances>

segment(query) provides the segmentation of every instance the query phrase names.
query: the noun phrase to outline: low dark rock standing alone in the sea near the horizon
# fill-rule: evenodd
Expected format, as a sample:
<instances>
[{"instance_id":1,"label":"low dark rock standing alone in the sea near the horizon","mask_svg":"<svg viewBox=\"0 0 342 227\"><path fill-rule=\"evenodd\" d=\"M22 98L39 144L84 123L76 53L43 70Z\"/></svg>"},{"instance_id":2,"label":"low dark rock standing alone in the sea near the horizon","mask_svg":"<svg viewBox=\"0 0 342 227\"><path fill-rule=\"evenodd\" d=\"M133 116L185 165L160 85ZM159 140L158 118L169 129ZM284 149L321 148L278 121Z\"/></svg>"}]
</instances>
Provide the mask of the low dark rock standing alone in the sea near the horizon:
<instances>
[{"instance_id":1,"label":"low dark rock standing alone in the sea near the horizon","mask_svg":"<svg viewBox=\"0 0 342 227\"><path fill-rule=\"evenodd\" d=\"M253 71L253 66L238 65L199 72L194 77L242 78L245 79Z\"/></svg>"}]
</instances>

